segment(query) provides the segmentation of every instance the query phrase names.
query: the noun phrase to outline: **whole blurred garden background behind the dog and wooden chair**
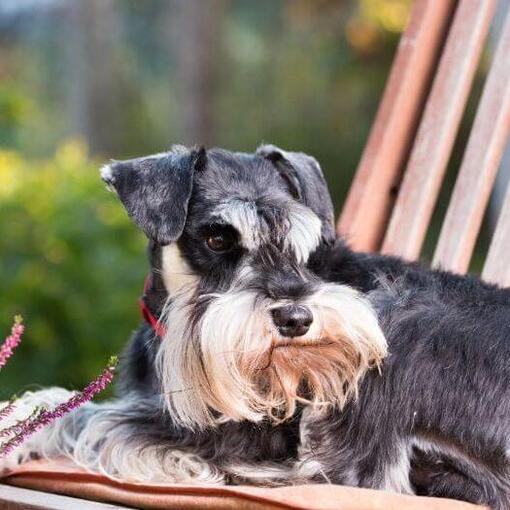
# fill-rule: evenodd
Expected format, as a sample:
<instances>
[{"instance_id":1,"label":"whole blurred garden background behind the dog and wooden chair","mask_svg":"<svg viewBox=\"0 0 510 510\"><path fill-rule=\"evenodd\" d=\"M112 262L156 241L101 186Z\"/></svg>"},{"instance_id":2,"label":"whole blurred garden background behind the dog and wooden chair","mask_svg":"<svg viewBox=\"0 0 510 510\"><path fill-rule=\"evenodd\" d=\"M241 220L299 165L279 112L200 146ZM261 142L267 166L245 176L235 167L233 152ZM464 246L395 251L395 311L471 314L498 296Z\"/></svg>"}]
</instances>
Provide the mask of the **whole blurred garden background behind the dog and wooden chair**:
<instances>
[{"instance_id":1,"label":"whole blurred garden background behind the dog and wooden chair","mask_svg":"<svg viewBox=\"0 0 510 510\"><path fill-rule=\"evenodd\" d=\"M145 240L106 192L102 163L172 143L271 142L321 162L338 211L411 4L0 0L0 335L15 313L27 324L0 398L80 387L139 322Z\"/></svg>"}]
</instances>

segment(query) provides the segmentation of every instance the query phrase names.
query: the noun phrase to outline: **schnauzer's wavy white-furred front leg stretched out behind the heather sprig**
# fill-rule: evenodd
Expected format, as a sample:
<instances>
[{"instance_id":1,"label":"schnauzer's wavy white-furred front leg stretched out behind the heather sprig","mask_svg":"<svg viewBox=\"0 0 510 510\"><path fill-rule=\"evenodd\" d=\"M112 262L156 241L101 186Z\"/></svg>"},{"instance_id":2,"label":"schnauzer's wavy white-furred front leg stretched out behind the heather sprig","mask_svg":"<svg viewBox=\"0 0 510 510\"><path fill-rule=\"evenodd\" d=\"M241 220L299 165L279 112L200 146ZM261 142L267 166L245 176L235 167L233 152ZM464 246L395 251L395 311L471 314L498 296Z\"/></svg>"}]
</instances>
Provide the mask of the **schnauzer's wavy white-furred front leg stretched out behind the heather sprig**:
<instances>
[{"instance_id":1,"label":"schnauzer's wavy white-furred front leg stretched out behind the heather sprig","mask_svg":"<svg viewBox=\"0 0 510 510\"><path fill-rule=\"evenodd\" d=\"M53 408L72 392L48 388L27 392L2 425L8 427L30 415L37 406ZM1 472L8 473L33 458L65 458L73 464L109 478L136 482L221 484L224 474L192 452L169 449L163 443L144 443L122 418L137 405L136 395L88 403L28 438L6 458Z\"/></svg>"}]
</instances>

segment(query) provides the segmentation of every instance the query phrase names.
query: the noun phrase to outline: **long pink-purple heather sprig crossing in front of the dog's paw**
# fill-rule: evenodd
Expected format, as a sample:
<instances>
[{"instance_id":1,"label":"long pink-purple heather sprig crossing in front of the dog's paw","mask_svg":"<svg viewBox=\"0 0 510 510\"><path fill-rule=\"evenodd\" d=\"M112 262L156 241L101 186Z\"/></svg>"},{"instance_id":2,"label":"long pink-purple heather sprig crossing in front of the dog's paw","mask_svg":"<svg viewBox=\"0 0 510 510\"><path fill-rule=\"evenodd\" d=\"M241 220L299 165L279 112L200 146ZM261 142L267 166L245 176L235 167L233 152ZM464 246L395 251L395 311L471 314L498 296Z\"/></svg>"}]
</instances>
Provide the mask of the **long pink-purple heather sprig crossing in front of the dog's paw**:
<instances>
[{"instance_id":1,"label":"long pink-purple heather sprig crossing in front of the dog's paw","mask_svg":"<svg viewBox=\"0 0 510 510\"><path fill-rule=\"evenodd\" d=\"M52 410L36 408L25 420L8 427L5 431L0 431L0 437L14 434L0 446L0 457L8 455L35 432L92 400L95 395L103 391L111 383L116 366L117 357L114 356L110 358L107 367L96 379L90 382L82 391L75 393L66 402L58 404Z\"/></svg>"}]
</instances>

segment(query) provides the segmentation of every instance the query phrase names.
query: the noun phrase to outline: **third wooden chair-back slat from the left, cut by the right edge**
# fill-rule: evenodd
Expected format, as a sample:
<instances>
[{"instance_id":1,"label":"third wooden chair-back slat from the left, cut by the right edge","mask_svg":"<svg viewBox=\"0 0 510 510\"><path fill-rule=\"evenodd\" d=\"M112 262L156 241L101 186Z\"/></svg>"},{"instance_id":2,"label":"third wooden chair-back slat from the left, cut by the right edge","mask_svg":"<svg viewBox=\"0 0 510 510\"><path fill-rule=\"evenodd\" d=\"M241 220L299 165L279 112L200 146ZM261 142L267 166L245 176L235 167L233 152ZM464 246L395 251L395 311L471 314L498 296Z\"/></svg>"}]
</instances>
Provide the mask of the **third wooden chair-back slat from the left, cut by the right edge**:
<instances>
[{"instance_id":1,"label":"third wooden chair-back slat from the left, cut by the right edge","mask_svg":"<svg viewBox=\"0 0 510 510\"><path fill-rule=\"evenodd\" d=\"M510 14L501 32L441 229L435 266L459 273L468 270L509 133ZM510 231L510 224L503 228Z\"/></svg>"}]
</instances>

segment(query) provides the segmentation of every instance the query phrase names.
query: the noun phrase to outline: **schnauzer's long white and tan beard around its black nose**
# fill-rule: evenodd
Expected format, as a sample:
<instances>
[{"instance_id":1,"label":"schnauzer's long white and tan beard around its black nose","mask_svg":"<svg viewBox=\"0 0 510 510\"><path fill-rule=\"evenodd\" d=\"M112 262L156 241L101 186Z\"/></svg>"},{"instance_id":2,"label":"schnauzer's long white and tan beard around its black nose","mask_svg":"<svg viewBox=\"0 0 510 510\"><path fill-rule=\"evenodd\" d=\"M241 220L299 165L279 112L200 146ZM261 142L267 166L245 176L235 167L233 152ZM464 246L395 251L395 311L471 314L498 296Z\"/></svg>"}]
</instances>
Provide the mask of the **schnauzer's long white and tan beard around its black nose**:
<instances>
[{"instance_id":1,"label":"schnauzer's long white and tan beard around its black nose","mask_svg":"<svg viewBox=\"0 0 510 510\"><path fill-rule=\"evenodd\" d=\"M276 303L249 290L214 295L191 327L191 295L182 291L168 307L157 356L167 407L188 428L280 421L297 402L342 407L386 355L375 311L345 285L323 284L302 302L314 321L299 339L279 337L270 315Z\"/></svg>"}]
</instances>

